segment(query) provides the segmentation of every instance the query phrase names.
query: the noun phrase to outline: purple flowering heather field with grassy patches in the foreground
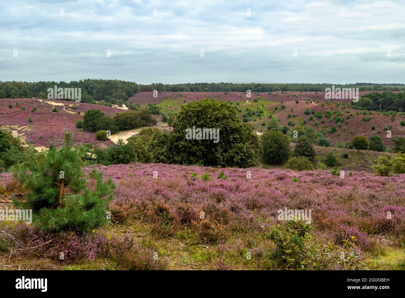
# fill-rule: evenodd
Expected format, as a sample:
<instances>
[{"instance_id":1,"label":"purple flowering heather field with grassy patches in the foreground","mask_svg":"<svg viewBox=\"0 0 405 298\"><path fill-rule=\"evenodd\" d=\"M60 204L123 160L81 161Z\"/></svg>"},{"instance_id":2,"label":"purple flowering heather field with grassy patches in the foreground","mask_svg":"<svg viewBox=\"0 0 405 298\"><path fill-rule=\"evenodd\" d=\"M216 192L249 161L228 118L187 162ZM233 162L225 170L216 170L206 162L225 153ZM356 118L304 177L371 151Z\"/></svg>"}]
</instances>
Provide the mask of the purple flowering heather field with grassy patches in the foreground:
<instances>
[{"instance_id":1,"label":"purple flowering heather field with grassy patches in the foreground","mask_svg":"<svg viewBox=\"0 0 405 298\"><path fill-rule=\"evenodd\" d=\"M84 171L90 173L93 168ZM299 257L288 250L279 255L276 235L281 231L275 230L280 224L277 211L285 208L311 210L303 269L401 269L404 261L400 243L405 236L405 175L353 172L341 179L328 171L142 163L97 165L96 169L117 186L109 205L111 224L92 237L64 234L64 240L55 240L72 262L60 262L52 252L28 262L27 253L10 260L1 257L3 266L123 269L124 265L105 258L105 250L132 239L143 252L138 262L148 269L292 269L291 259ZM226 179L217 178L221 171ZM190 177L194 172L208 174L209 180ZM2 194L22 191L11 175L0 177ZM2 202L4 206L6 201ZM30 245L45 242L38 237ZM340 259L342 252L349 251L353 258ZM153 252L160 256L159 262L148 261ZM280 263L279 258L290 261Z\"/></svg>"}]
</instances>

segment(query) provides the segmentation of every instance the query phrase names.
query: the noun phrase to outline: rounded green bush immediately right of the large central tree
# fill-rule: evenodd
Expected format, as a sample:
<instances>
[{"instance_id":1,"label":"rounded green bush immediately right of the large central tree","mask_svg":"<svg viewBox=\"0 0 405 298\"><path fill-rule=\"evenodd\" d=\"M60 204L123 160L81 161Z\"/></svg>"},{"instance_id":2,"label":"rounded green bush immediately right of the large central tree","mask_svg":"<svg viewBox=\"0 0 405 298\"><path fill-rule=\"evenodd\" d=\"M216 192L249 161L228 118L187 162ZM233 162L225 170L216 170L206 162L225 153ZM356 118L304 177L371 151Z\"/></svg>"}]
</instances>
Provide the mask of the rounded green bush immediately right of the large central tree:
<instances>
[{"instance_id":1,"label":"rounded green bush immediately right of the large central tree","mask_svg":"<svg viewBox=\"0 0 405 298\"><path fill-rule=\"evenodd\" d=\"M290 155L290 138L281 131L267 131L262 135L262 148L266 163L283 163Z\"/></svg>"}]
</instances>

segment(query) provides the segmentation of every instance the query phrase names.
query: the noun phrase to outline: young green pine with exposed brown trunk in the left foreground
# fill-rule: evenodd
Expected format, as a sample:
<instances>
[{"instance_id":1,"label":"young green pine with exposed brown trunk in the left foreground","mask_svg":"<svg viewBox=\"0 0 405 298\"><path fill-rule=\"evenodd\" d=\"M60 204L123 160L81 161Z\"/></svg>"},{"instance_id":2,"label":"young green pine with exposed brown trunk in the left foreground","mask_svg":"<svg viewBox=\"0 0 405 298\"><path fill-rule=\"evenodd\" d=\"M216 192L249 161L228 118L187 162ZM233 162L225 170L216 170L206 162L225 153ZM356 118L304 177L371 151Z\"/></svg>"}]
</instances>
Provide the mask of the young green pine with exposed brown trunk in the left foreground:
<instances>
[{"instance_id":1,"label":"young green pine with exposed brown trunk in the left foreground","mask_svg":"<svg viewBox=\"0 0 405 298\"><path fill-rule=\"evenodd\" d=\"M26 202L16 206L33 210L33 219L44 229L55 232L89 232L107 223L107 202L114 184L103 182L101 172L93 170L94 191L86 188L81 170L86 148L72 149L71 132L65 132L62 148L50 148L43 157L32 155L27 165L17 165L14 176L30 191Z\"/></svg>"}]
</instances>

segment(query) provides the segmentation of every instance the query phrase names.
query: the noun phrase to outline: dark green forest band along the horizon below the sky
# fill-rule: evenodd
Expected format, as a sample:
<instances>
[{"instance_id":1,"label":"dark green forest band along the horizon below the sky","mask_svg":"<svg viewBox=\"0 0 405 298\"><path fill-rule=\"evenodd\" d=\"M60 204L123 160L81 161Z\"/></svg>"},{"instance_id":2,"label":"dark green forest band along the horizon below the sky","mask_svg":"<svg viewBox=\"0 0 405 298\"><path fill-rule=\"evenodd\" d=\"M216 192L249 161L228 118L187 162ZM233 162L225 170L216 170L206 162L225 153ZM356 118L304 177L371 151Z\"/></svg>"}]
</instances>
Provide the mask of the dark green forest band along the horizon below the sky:
<instances>
[{"instance_id":1,"label":"dark green forest band along the horizon below the sky","mask_svg":"<svg viewBox=\"0 0 405 298\"><path fill-rule=\"evenodd\" d=\"M273 91L313 91L324 92L331 84L233 84L233 83L187 83L187 84L162 84L154 83L141 85L129 81L85 79L83 81L55 82L0 82L0 98L26 98L44 97L48 88L55 85L61 88L81 88L82 101L88 103L92 100L111 102L117 99L126 101L136 92L153 91L159 92L273 92ZM372 84L356 83L352 85L335 84L340 88L359 88L360 91L401 91L405 84ZM113 103L113 102L112 102Z\"/></svg>"}]
</instances>

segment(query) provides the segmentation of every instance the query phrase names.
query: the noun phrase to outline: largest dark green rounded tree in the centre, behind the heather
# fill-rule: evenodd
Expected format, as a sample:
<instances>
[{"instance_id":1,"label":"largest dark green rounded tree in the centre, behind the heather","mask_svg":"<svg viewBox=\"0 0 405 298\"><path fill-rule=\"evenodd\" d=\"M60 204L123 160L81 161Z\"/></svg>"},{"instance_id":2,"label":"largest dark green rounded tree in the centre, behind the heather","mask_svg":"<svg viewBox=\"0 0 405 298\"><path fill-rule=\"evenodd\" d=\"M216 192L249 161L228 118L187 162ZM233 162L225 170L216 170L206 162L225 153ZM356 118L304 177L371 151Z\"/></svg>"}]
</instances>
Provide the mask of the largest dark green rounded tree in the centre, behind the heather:
<instances>
[{"instance_id":1,"label":"largest dark green rounded tree in the centre, behind the heather","mask_svg":"<svg viewBox=\"0 0 405 298\"><path fill-rule=\"evenodd\" d=\"M218 103L215 99L192 101L181 105L168 124L173 126L173 132L168 136L155 135L152 141L156 162L222 167L258 165L259 138L251 127L239 121L236 109L229 103ZM215 139L213 134L211 139L188 139L186 129L192 130L193 126L212 129L217 135ZM156 152L163 155L160 157Z\"/></svg>"}]
</instances>

